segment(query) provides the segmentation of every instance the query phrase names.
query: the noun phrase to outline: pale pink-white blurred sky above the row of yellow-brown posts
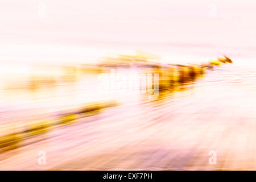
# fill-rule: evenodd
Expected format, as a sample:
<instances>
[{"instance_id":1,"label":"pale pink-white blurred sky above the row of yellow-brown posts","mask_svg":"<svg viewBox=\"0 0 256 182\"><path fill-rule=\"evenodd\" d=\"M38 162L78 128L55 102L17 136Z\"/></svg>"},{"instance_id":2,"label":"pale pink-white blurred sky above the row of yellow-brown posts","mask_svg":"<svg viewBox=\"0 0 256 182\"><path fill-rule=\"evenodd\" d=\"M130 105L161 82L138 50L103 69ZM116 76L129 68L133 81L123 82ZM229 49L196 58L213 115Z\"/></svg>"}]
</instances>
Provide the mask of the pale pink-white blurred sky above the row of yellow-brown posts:
<instances>
[{"instance_id":1,"label":"pale pink-white blurred sky above the row of yellow-brown posts","mask_svg":"<svg viewBox=\"0 0 256 182\"><path fill-rule=\"evenodd\" d=\"M136 49L255 57L255 9L248 0L1 0L0 60L89 61Z\"/></svg>"}]
</instances>

